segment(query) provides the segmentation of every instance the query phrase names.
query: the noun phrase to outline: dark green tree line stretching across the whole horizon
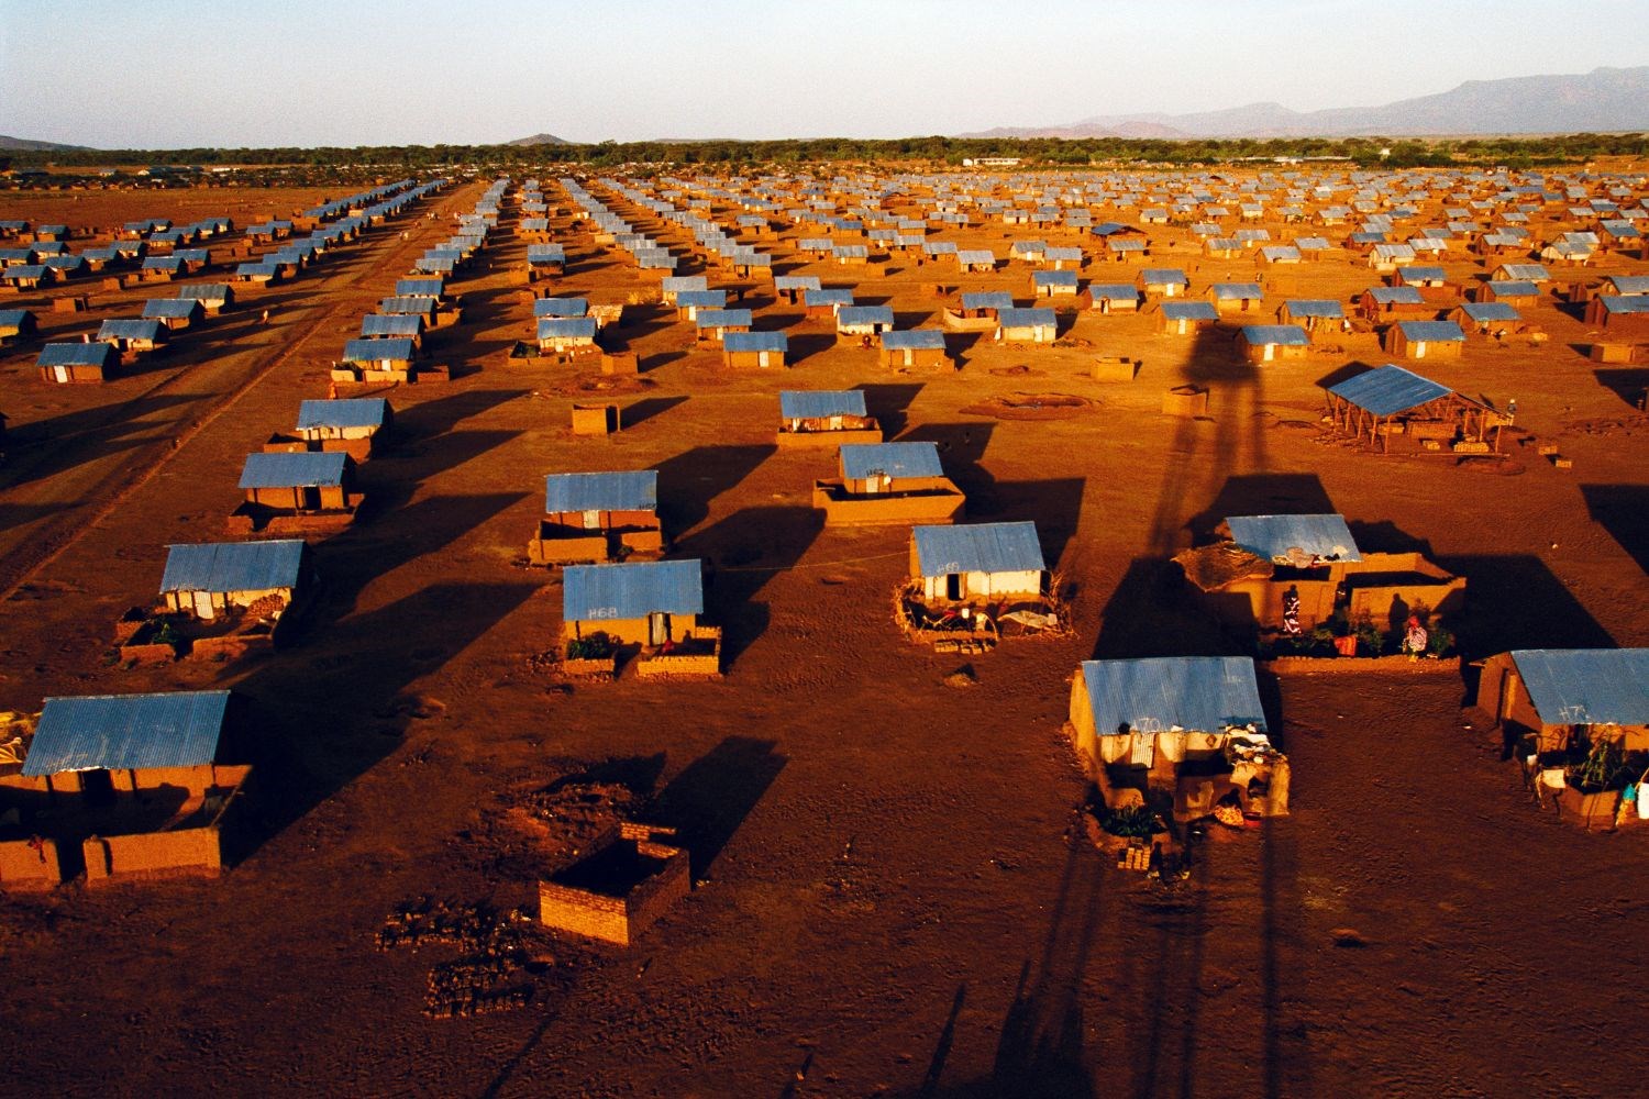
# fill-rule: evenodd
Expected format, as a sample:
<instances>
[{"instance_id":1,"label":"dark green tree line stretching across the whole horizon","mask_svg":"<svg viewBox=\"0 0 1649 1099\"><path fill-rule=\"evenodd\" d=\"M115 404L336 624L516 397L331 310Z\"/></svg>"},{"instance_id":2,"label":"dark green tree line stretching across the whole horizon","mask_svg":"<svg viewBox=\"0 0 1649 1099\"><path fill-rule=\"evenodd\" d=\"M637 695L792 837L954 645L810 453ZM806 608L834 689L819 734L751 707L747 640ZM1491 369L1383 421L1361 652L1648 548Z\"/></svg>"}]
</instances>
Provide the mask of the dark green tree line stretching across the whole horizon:
<instances>
[{"instance_id":1,"label":"dark green tree line stretching across the whole horizon","mask_svg":"<svg viewBox=\"0 0 1649 1099\"><path fill-rule=\"evenodd\" d=\"M7 168L112 168L122 165L351 165L435 168L440 165L806 165L828 161L960 166L981 157L1017 157L1022 166L1209 165L1242 160L1332 157L1359 166L1557 166L1595 157L1646 157L1644 133L1568 133L1560 137L1290 137L1290 138L1123 138L1123 137L909 137L600 142L564 145L361 145L355 148L171 148L171 150L13 150Z\"/></svg>"}]
</instances>

